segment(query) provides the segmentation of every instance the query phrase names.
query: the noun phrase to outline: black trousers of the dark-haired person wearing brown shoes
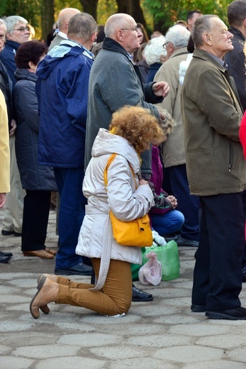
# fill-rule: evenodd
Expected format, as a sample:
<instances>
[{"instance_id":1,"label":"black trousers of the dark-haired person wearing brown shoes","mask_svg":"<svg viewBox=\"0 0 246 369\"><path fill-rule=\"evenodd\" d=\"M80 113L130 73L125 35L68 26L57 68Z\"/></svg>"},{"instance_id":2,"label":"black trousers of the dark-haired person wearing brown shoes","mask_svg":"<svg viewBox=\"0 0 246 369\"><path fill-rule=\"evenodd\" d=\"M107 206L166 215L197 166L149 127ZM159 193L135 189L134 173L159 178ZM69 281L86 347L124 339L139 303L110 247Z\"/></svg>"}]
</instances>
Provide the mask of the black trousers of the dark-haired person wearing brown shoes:
<instances>
[{"instance_id":1,"label":"black trousers of the dark-haired person wearing brown shoes","mask_svg":"<svg viewBox=\"0 0 246 369\"><path fill-rule=\"evenodd\" d=\"M50 191L26 190L23 207L21 250L45 249L47 222L50 212Z\"/></svg>"}]
</instances>

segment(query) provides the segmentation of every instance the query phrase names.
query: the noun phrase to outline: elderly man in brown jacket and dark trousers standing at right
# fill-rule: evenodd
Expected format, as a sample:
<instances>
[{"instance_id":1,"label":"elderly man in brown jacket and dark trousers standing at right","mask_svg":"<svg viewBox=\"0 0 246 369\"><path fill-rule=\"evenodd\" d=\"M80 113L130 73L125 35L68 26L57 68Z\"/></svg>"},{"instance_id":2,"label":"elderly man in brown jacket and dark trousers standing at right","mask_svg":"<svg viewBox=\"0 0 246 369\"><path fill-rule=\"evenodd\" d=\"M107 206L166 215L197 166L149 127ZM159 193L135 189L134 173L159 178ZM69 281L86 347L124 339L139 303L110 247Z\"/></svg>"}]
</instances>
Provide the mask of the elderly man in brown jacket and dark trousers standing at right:
<instances>
[{"instance_id":1,"label":"elderly man in brown jacket and dark trousers standing at right","mask_svg":"<svg viewBox=\"0 0 246 369\"><path fill-rule=\"evenodd\" d=\"M189 187L201 201L191 310L210 319L246 320L239 299L246 183L242 109L222 60L233 50L233 35L215 15L197 19L191 35L196 48L181 95Z\"/></svg>"}]
</instances>

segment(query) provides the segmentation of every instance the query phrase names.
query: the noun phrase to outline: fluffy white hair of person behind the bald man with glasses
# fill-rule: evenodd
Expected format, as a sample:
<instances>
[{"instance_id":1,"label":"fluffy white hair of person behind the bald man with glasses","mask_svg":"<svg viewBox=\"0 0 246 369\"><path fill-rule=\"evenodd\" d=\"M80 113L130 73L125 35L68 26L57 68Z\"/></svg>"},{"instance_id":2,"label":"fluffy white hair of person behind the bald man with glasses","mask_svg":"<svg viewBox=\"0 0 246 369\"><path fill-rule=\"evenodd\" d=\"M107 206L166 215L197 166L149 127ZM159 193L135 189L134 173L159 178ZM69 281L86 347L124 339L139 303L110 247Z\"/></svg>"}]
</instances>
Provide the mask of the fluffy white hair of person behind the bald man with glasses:
<instances>
[{"instance_id":1,"label":"fluffy white hair of person behind the bald man with glasses","mask_svg":"<svg viewBox=\"0 0 246 369\"><path fill-rule=\"evenodd\" d=\"M155 62L162 62L161 57L167 55L167 50L163 48L165 43L164 36L152 38L145 46L145 60L148 65L152 65Z\"/></svg>"}]
</instances>

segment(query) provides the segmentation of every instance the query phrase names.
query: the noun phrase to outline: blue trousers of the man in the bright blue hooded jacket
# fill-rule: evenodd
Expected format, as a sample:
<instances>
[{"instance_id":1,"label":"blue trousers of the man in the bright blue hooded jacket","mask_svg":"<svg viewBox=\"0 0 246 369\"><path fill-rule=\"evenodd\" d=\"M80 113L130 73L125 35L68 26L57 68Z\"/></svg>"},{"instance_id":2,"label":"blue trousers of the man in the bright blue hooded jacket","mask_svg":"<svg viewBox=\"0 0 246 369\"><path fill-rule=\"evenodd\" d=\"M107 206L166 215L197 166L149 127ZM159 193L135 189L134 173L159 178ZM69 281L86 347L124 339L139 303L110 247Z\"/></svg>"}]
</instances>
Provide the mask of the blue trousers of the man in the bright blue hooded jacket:
<instances>
[{"instance_id":1,"label":"blue trousers of the man in the bright blue hooded jacket","mask_svg":"<svg viewBox=\"0 0 246 369\"><path fill-rule=\"evenodd\" d=\"M82 192L84 170L54 167L54 173L60 193L58 218L60 247L55 258L55 268L67 269L82 262L82 257L75 253L75 248L87 203Z\"/></svg>"}]
</instances>

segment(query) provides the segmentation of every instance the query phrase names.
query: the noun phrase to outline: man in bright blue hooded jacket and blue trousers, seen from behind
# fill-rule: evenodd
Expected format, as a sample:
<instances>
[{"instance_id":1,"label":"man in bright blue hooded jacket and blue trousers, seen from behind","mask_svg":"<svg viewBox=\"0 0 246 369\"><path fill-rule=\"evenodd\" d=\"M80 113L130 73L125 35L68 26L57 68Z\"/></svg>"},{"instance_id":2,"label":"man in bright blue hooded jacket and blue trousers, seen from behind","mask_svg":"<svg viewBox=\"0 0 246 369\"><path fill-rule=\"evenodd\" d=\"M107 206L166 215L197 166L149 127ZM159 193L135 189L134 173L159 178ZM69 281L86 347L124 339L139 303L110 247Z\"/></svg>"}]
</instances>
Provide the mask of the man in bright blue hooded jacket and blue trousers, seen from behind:
<instances>
[{"instance_id":1,"label":"man in bright blue hooded jacket and blue trousers, seen from behind","mask_svg":"<svg viewBox=\"0 0 246 369\"><path fill-rule=\"evenodd\" d=\"M61 198L60 248L55 274L91 274L91 266L83 263L75 248L86 204L82 182L89 72L93 62L89 50L96 38L96 29L92 16L77 13L69 21L68 40L55 46L37 70L38 163L54 167Z\"/></svg>"}]
</instances>

